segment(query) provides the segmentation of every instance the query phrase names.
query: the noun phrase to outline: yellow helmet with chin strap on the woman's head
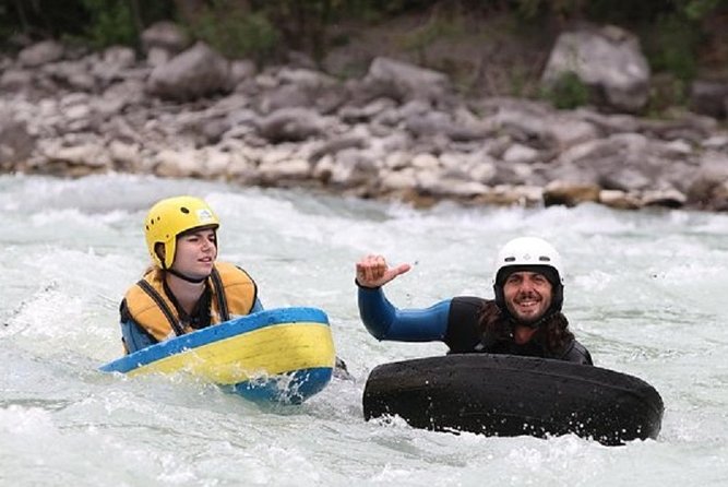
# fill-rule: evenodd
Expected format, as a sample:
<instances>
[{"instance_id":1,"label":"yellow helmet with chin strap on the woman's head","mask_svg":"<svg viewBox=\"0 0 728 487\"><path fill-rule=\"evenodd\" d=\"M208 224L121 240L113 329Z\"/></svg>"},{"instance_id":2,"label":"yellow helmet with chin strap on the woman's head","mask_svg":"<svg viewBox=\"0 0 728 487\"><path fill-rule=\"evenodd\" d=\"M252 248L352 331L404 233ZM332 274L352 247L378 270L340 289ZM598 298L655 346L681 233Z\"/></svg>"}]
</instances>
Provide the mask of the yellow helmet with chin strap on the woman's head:
<instances>
[{"instance_id":1,"label":"yellow helmet with chin strap on the woman's head","mask_svg":"<svg viewBox=\"0 0 728 487\"><path fill-rule=\"evenodd\" d=\"M152 260L162 269L169 269L175 262L177 237L195 228L217 228L219 219L215 212L200 198L175 197L157 202L146 215L144 237ZM157 243L165 246L162 262L155 251Z\"/></svg>"}]
</instances>

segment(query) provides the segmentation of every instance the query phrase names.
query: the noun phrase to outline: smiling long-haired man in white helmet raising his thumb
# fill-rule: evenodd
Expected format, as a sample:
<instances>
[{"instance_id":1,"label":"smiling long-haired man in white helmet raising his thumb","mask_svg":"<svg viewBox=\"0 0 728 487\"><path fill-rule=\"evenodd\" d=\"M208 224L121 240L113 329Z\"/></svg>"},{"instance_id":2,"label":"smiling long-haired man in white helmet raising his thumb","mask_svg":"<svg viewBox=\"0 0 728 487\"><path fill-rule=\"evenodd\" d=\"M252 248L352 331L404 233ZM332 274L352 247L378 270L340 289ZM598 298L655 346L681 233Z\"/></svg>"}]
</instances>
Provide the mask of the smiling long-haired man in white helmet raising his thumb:
<instances>
[{"instance_id":1,"label":"smiling long-haired man in white helmet raising his thumb","mask_svg":"<svg viewBox=\"0 0 728 487\"><path fill-rule=\"evenodd\" d=\"M546 240L521 237L503 246L493 273L492 300L461 296L427 309L397 309L382 286L409 269L409 264L390 268L382 256L367 256L356 264L359 314L378 340L441 341L456 354L511 354L593 365L561 312L561 257Z\"/></svg>"}]
</instances>

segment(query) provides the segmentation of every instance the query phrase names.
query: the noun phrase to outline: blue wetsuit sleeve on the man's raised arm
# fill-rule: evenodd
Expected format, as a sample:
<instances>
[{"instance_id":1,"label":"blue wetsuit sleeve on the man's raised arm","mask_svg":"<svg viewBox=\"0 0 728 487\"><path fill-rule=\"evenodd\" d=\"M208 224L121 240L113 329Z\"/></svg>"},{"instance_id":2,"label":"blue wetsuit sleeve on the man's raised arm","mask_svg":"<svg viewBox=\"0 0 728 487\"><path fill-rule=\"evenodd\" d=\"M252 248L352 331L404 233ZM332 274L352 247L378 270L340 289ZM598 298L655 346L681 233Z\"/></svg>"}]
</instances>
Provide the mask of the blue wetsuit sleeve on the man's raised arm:
<instances>
[{"instance_id":1,"label":"blue wetsuit sleeve on the man's raised arm","mask_svg":"<svg viewBox=\"0 0 728 487\"><path fill-rule=\"evenodd\" d=\"M381 288L359 287L359 316L377 340L442 341L447 331L450 299L426 309L397 309Z\"/></svg>"}]
</instances>

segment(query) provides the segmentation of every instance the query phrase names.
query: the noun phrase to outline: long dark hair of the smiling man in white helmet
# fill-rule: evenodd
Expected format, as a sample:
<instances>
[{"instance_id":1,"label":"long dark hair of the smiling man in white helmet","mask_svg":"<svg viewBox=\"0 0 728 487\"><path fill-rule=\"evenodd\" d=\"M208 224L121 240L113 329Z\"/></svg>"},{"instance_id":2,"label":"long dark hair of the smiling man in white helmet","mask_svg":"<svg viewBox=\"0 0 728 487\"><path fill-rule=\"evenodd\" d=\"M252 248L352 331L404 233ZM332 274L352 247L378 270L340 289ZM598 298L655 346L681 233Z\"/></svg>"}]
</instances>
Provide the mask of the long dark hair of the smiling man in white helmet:
<instances>
[{"instance_id":1,"label":"long dark hair of the smiling man in white helmet","mask_svg":"<svg viewBox=\"0 0 728 487\"><path fill-rule=\"evenodd\" d=\"M512 341L516 322L502 312L496 301L486 301L480 309L478 324L488 345ZM541 343L548 355L560 356L574 340L574 334L569 330L566 317L562 312L556 312L538 325L535 338Z\"/></svg>"}]
</instances>

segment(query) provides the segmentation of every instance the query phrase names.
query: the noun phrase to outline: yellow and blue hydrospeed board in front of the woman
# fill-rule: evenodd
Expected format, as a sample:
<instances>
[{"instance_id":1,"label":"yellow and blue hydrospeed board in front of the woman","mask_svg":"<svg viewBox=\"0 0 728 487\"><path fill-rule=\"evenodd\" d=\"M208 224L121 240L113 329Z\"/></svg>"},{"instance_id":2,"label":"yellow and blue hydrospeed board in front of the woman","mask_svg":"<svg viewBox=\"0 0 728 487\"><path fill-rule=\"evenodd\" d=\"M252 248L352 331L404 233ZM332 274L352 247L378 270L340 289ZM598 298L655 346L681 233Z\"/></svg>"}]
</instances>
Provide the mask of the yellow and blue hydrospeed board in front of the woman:
<instances>
[{"instance_id":1,"label":"yellow and blue hydrospeed board in front of the woman","mask_svg":"<svg viewBox=\"0 0 728 487\"><path fill-rule=\"evenodd\" d=\"M301 403L331 381L336 353L326 313L279 308L198 330L100 367L105 372L189 372L253 401Z\"/></svg>"}]
</instances>

